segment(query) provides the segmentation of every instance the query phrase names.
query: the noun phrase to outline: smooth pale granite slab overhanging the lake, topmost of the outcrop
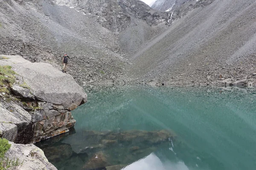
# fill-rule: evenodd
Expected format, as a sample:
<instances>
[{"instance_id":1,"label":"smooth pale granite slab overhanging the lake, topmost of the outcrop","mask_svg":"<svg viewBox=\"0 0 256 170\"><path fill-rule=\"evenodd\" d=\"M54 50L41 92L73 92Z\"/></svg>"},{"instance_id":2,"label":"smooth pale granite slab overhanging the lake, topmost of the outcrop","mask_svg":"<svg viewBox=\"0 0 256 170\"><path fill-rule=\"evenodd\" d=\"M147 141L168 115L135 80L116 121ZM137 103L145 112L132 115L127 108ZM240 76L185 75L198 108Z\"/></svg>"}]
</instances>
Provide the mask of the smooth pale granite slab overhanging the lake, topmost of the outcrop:
<instances>
[{"instance_id":1,"label":"smooth pale granite slab overhanging the lake, topmost of the outcrop","mask_svg":"<svg viewBox=\"0 0 256 170\"><path fill-rule=\"evenodd\" d=\"M87 95L70 74L64 74L52 65L43 62L29 62L20 56L3 56L0 65L10 65L29 86L36 99L65 109L79 106L87 101Z\"/></svg>"}]
</instances>

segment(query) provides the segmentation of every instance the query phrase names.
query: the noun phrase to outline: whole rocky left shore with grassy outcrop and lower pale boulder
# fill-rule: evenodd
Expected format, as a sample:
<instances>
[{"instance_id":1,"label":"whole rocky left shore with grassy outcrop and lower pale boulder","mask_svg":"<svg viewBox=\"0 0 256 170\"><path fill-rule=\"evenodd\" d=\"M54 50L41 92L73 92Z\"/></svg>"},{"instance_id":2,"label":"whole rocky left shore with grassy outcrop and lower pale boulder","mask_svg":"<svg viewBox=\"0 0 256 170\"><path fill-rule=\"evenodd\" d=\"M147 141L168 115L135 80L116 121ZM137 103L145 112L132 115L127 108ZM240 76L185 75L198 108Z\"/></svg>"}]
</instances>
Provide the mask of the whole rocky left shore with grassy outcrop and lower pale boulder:
<instances>
[{"instance_id":1,"label":"whole rocky left shore with grassy outcrop and lower pale boulder","mask_svg":"<svg viewBox=\"0 0 256 170\"><path fill-rule=\"evenodd\" d=\"M11 144L5 156L23 161L20 170L57 170L33 143L68 132L76 123L71 111L87 94L47 63L0 55L0 68L0 137Z\"/></svg>"}]
</instances>

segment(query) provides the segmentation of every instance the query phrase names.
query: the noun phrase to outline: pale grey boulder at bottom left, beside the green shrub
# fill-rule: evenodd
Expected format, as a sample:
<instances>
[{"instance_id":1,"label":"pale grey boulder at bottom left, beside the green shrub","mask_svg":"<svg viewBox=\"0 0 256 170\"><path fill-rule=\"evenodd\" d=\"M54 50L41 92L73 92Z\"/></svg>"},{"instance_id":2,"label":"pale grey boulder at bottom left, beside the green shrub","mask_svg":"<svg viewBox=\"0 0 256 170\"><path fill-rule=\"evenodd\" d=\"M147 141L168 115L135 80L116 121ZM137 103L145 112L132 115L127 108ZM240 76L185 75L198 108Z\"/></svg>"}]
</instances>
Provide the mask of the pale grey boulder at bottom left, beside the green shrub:
<instances>
[{"instance_id":1,"label":"pale grey boulder at bottom left, beside the green shrub","mask_svg":"<svg viewBox=\"0 0 256 170\"><path fill-rule=\"evenodd\" d=\"M49 163L44 156L44 152L34 144L9 143L12 145L5 156L12 160L19 159L23 161L19 170L57 170L56 167Z\"/></svg>"}]
</instances>

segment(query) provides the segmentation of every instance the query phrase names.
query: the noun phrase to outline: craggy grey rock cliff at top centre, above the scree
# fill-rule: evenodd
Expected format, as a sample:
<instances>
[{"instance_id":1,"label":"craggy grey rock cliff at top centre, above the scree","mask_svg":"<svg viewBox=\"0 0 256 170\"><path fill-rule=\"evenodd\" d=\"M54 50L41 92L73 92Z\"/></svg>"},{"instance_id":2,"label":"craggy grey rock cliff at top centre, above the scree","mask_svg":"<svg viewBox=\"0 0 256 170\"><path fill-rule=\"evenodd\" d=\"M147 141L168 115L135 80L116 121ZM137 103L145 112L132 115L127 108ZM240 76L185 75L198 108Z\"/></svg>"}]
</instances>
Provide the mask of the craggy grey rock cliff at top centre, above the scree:
<instances>
[{"instance_id":1,"label":"craggy grey rock cliff at top centre, above the scree","mask_svg":"<svg viewBox=\"0 0 256 170\"><path fill-rule=\"evenodd\" d=\"M134 17L148 25L166 23L169 13L155 11L140 0L53 0L57 5L75 8L83 14L97 17L97 21L111 31L124 31Z\"/></svg>"}]
</instances>

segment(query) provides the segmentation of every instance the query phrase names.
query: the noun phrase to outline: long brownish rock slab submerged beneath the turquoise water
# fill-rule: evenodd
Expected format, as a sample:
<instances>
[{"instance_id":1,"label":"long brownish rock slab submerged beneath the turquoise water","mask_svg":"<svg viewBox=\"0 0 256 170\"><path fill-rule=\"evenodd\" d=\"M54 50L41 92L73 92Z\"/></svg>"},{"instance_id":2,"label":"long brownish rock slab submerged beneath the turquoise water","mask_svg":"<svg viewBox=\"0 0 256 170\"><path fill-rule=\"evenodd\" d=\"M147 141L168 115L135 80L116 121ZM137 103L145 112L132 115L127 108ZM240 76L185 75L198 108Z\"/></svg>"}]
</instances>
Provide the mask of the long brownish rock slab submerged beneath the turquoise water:
<instances>
[{"instance_id":1,"label":"long brownish rock slab submerged beneath the turquoise water","mask_svg":"<svg viewBox=\"0 0 256 170\"><path fill-rule=\"evenodd\" d=\"M127 130L119 133L84 131L84 133L74 135L79 137L72 136L62 142L70 144L73 151L77 154L91 154L99 150L119 147L120 145L127 146L128 150L137 150L140 149L141 144L142 147L151 147L162 142L169 142L170 139L176 136L175 133L169 130Z\"/></svg>"}]
</instances>

